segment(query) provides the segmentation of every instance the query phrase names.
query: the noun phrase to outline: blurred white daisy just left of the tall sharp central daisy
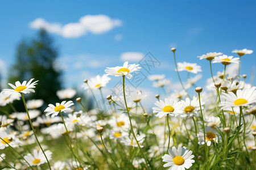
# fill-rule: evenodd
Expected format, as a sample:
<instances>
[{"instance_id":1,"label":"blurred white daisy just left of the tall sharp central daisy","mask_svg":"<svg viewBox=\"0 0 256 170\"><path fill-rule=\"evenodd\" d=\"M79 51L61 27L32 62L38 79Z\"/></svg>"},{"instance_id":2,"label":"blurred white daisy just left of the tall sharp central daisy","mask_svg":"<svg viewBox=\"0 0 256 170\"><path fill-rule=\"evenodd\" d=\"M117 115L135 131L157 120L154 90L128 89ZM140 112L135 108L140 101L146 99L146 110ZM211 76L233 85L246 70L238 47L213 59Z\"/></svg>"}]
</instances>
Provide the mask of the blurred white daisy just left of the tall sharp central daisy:
<instances>
[{"instance_id":1,"label":"blurred white daisy just left of the tall sharp central daisy","mask_svg":"<svg viewBox=\"0 0 256 170\"><path fill-rule=\"evenodd\" d=\"M97 75L94 78L90 78L87 83L84 83L82 85L82 87L84 87L85 90L88 88L91 88L92 90L100 89L101 87L106 87L106 84L109 83L110 79L111 78L109 78L107 74L104 74L102 76Z\"/></svg>"}]
</instances>

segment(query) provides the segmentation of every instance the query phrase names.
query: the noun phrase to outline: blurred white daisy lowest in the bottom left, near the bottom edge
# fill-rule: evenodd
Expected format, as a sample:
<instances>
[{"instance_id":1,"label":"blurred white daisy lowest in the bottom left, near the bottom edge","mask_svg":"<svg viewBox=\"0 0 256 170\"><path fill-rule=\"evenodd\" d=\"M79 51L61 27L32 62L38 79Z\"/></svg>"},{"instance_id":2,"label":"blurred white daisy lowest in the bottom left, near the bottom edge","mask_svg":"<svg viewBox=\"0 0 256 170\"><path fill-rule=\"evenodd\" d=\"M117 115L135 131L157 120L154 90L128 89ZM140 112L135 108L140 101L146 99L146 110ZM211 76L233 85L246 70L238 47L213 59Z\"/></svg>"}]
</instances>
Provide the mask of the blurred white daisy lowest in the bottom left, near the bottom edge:
<instances>
[{"instance_id":1,"label":"blurred white daisy lowest in the bottom left, near the bottom edge","mask_svg":"<svg viewBox=\"0 0 256 170\"><path fill-rule=\"evenodd\" d=\"M52 159L52 152L51 151L44 151L46 154L46 157L48 160ZM32 154L27 154L24 156L24 159L27 160L27 162L32 165L32 166L39 166L41 164L47 163L46 157L44 156L42 150L33 150L33 155Z\"/></svg>"}]
</instances>

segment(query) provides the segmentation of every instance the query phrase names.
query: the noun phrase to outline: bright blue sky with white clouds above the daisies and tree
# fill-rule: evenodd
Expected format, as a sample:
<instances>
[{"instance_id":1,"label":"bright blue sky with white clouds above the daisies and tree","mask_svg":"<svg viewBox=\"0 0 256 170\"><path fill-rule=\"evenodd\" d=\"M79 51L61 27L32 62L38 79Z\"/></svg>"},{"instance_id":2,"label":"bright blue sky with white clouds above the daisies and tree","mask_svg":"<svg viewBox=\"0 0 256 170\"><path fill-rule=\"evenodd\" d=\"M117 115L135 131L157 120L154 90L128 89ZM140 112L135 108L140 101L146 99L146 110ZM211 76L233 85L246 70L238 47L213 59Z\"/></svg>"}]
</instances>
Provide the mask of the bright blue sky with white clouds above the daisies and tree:
<instances>
[{"instance_id":1,"label":"bright blue sky with white clouds above the daisies and tree","mask_svg":"<svg viewBox=\"0 0 256 170\"><path fill-rule=\"evenodd\" d=\"M59 51L56 63L64 71L64 87L80 87L82 80L104 74L106 67L121 66L127 52L133 52L129 63L138 63L150 52L160 66L145 75L165 74L177 87L172 47L177 48L177 62L202 67L197 86L210 77L209 62L197 58L208 52L237 57L233 49L254 50L241 63L241 74L250 75L256 65L255 8L256 1L1 1L2 81L6 83L15 63L18 43L35 37L42 25ZM223 65L213 64L214 74L222 70ZM118 80L112 77L108 88ZM158 92L151 84L144 80L136 90Z\"/></svg>"}]
</instances>

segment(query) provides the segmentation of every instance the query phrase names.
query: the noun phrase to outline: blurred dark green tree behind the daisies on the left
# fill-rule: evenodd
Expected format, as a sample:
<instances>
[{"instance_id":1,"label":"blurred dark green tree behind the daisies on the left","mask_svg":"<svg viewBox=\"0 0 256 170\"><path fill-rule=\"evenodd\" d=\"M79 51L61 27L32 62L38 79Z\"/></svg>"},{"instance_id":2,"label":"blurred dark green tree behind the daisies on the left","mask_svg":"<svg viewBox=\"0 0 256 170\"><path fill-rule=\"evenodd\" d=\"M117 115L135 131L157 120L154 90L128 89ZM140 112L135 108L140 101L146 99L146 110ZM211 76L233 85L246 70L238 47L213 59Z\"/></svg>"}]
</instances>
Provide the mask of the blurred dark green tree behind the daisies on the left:
<instances>
[{"instance_id":1,"label":"blurred dark green tree behind the daisies on the left","mask_svg":"<svg viewBox=\"0 0 256 170\"><path fill-rule=\"evenodd\" d=\"M38 37L29 41L22 41L16 52L16 63L9 71L9 82L22 82L35 78L39 80L36 92L28 99L43 99L47 103L55 103L59 99L56 91L61 89L61 71L54 67L57 50L53 46L52 38L41 29Z\"/></svg>"}]
</instances>

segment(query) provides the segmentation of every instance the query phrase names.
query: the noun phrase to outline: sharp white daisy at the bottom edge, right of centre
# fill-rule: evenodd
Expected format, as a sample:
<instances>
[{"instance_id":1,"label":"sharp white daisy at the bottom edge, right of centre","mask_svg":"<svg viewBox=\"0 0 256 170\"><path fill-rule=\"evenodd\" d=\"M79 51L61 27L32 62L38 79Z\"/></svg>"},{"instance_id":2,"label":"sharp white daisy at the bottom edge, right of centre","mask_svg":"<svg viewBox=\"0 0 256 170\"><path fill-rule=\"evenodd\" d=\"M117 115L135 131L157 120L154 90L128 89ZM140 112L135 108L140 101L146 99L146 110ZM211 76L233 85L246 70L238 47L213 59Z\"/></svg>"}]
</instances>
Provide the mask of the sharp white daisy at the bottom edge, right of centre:
<instances>
[{"instance_id":1,"label":"sharp white daisy at the bottom edge, right of centre","mask_svg":"<svg viewBox=\"0 0 256 170\"><path fill-rule=\"evenodd\" d=\"M172 147L172 150L169 149L169 155L165 154L162 156L163 162L167 162L163 165L163 167L170 167L169 170L185 170L185 168L190 168L192 163L195 162L192 158L195 155L192 155L192 151L189 151L186 147L179 146L177 149L176 147Z\"/></svg>"}]
</instances>

